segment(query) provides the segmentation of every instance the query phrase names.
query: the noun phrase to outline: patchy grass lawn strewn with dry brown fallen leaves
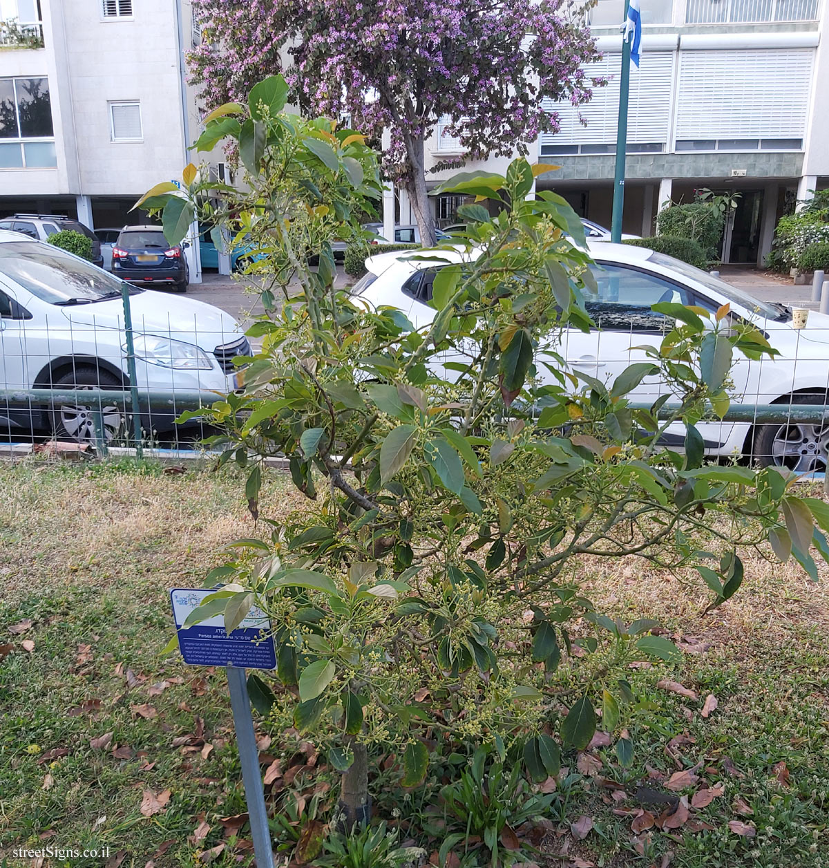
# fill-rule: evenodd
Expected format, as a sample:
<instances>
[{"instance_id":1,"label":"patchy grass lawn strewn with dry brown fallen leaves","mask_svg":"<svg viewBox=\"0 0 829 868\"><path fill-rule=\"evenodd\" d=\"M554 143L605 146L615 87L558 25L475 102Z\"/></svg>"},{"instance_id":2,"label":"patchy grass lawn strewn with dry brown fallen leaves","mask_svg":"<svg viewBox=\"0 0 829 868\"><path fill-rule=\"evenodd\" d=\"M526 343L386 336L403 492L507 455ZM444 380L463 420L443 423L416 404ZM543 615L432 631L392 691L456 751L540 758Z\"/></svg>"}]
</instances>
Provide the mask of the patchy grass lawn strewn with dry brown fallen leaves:
<instances>
[{"instance_id":1,"label":"patchy grass lawn strewn with dry brown fallen leaves","mask_svg":"<svg viewBox=\"0 0 829 868\"><path fill-rule=\"evenodd\" d=\"M242 477L27 460L0 464L0 490L0 865L31 865L13 849L47 846L109 847L109 860L64 854L43 865L246 864L223 673L159 655L168 589L200 586L222 545L253 533ZM263 515L289 503L297 496L274 472ZM678 667L631 670L649 713L629 726L632 766L601 743L565 753L569 783L538 864L829 866L825 586L789 565L747 562L740 593L702 617L699 588L642 562L580 569L599 608L661 621L687 654ZM296 746L269 740L263 762L281 753L287 764ZM309 783L313 746L300 750L307 762L288 784L297 799L326 789ZM664 805L649 792L689 769L676 792L695 809L660 830L651 821Z\"/></svg>"}]
</instances>

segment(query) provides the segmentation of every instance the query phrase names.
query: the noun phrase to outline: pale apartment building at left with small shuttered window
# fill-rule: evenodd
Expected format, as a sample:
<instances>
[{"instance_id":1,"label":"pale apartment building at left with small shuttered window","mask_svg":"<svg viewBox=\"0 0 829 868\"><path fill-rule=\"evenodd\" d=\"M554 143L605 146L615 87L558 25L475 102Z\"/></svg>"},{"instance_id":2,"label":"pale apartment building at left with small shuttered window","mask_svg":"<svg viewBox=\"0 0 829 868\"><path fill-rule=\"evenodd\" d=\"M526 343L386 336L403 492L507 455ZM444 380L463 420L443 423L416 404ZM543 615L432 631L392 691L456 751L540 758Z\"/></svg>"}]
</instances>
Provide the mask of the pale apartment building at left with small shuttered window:
<instances>
[{"instance_id":1,"label":"pale apartment building at left with small shuttered window","mask_svg":"<svg viewBox=\"0 0 829 868\"><path fill-rule=\"evenodd\" d=\"M185 86L186 0L0 0L0 216L135 221L181 178L198 115ZM196 246L194 246L196 247ZM192 247L191 279L198 279Z\"/></svg>"}]
</instances>

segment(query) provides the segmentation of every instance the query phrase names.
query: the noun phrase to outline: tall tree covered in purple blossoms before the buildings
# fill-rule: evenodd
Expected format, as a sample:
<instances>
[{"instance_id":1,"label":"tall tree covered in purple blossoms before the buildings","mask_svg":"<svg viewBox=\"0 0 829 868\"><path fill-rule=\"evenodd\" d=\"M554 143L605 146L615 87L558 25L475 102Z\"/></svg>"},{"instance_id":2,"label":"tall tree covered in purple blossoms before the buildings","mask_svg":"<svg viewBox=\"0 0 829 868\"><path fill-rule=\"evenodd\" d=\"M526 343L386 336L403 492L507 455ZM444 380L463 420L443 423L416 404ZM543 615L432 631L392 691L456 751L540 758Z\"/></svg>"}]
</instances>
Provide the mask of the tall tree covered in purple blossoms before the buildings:
<instances>
[{"instance_id":1,"label":"tall tree covered in purple blossoms before the buildings","mask_svg":"<svg viewBox=\"0 0 829 868\"><path fill-rule=\"evenodd\" d=\"M472 158L526 154L556 132L542 101L585 102L594 83L582 69L598 56L582 10L567 0L194 0L204 42L189 61L208 109L283 72L302 109L350 115L378 143L389 129L385 173L434 243L431 130L448 116Z\"/></svg>"}]
</instances>

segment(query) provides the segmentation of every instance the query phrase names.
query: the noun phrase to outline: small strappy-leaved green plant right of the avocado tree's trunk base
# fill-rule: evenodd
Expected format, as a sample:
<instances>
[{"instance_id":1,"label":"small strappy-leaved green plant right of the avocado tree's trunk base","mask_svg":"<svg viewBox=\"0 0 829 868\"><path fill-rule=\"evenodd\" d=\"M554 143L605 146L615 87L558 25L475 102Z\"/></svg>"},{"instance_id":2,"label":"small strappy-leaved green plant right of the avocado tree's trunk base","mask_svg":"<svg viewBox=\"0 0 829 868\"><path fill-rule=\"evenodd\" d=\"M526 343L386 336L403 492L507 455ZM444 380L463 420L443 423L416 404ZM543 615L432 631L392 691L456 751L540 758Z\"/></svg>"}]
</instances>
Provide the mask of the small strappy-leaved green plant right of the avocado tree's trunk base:
<instances>
[{"instance_id":1,"label":"small strappy-leaved green plant right of the avocado tree's trunk base","mask_svg":"<svg viewBox=\"0 0 829 868\"><path fill-rule=\"evenodd\" d=\"M555 794L531 792L520 763L514 763L512 771L506 773L502 758L487 768L488 759L490 747L479 747L469 771L440 791L449 834L443 833L439 865L446 865L453 848L457 858L483 850L491 868L524 861L522 851L530 849L530 845L519 838L516 830L529 820L549 815Z\"/></svg>"}]
</instances>

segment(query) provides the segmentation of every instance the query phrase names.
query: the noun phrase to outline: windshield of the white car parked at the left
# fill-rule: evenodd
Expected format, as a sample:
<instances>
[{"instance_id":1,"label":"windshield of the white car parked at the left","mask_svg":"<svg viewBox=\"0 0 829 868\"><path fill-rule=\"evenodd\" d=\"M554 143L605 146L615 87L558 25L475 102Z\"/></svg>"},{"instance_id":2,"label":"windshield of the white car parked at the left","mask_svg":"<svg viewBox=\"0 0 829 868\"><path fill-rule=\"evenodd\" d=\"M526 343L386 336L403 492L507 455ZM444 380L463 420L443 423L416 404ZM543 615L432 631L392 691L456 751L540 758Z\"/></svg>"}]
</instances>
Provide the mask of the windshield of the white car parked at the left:
<instances>
[{"instance_id":1,"label":"windshield of the white car parked at the left","mask_svg":"<svg viewBox=\"0 0 829 868\"><path fill-rule=\"evenodd\" d=\"M0 244L0 274L50 305L89 304L121 295L121 280L57 247Z\"/></svg>"}]
</instances>

